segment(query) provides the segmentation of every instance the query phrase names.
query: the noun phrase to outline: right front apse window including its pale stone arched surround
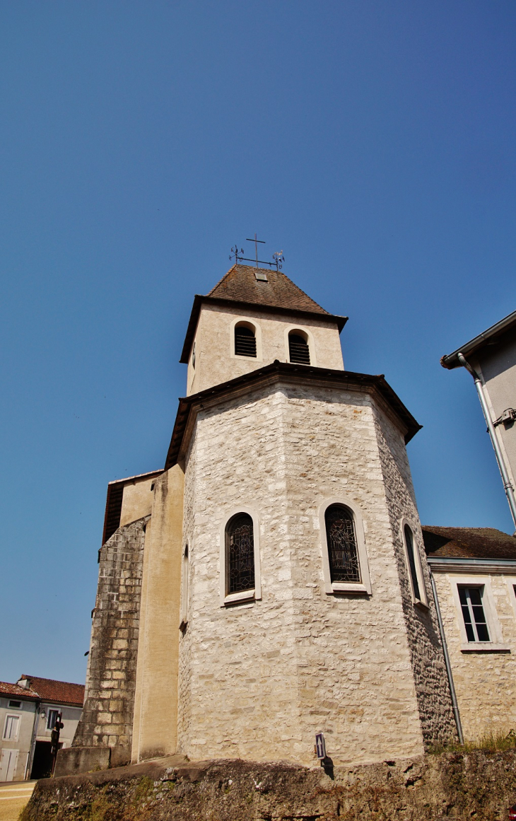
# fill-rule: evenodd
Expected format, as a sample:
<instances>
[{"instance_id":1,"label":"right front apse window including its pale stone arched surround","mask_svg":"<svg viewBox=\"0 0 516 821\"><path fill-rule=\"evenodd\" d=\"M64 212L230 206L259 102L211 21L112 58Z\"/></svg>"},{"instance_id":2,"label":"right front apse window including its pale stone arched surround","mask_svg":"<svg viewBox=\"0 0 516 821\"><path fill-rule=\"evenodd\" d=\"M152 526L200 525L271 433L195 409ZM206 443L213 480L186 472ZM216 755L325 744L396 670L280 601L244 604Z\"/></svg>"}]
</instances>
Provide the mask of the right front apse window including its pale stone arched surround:
<instances>
[{"instance_id":1,"label":"right front apse window including its pale stone arched surround","mask_svg":"<svg viewBox=\"0 0 516 821\"><path fill-rule=\"evenodd\" d=\"M319 511L322 575L328 594L371 594L368 554L358 507L345 498L324 502Z\"/></svg>"}]
</instances>

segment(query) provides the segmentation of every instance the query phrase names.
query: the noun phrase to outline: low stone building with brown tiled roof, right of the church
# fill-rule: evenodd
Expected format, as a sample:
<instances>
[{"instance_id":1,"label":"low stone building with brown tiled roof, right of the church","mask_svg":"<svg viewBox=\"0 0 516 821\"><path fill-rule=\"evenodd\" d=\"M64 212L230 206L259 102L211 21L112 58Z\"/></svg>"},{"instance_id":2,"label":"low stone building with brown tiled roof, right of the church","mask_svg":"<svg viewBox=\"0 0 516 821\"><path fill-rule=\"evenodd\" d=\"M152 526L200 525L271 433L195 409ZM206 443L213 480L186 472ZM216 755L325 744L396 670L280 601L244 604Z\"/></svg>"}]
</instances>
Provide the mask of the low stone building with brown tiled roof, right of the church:
<instances>
[{"instance_id":1,"label":"low stone building with brown tiled roof, right of the church","mask_svg":"<svg viewBox=\"0 0 516 821\"><path fill-rule=\"evenodd\" d=\"M516 731L516 539L422 528L466 739Z\"/></svg>"}]
</instances>

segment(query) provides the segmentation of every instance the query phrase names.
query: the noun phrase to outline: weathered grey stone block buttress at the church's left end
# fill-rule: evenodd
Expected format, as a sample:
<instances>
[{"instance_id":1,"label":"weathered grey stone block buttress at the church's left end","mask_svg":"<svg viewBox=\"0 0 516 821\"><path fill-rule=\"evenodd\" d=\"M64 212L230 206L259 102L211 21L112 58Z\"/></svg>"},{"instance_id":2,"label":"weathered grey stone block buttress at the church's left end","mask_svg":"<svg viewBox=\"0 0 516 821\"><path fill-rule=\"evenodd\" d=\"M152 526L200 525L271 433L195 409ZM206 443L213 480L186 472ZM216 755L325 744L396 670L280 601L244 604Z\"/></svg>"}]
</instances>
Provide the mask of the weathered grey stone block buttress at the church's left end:
<instances>
[{"instance_id":1,"label":"weathered grey stone block buttress at the church's left end","mask_svg":"<svg viewBox=\"0 0 516 821\"><path fill-rule=\"evenodd\" d=\"M146 521L120 527L100 549L84 709L73 741L116 748L120 761L130 760Z\"/></svg>"}]
</instances>

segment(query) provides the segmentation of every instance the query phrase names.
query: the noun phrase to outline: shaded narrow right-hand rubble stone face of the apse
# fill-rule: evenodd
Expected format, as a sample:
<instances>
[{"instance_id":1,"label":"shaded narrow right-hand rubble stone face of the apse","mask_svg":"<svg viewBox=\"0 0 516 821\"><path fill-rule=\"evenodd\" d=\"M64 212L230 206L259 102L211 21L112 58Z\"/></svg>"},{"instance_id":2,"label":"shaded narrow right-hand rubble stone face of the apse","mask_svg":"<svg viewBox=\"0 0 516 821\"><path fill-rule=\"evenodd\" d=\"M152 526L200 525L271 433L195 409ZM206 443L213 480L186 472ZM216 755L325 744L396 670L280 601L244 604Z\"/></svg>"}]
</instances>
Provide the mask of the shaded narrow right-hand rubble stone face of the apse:
<instances>
[{"instance_id":1,"label":"shaded narrow right-hand rubble stone face of the apse","mask_svg":"<svg viewBox=\"0 0 516 821\"><path fill-rule=\"evenodd\" d=\"M409 458L403 437L395 425L385 414L377 413L376 420L381 469L388 499L390 526L395 544L404 619L409 636L423 738L426 745L435 744L436 741L445 743L450 741L450 738L456 737L456 727L427 557L422 542L418 508L410 475ZM409 568L402 544L403 534L400 526L403 517L409 521L413 532L414 550L418 550L421 559L428 609L415 605L412 600Z\"/></svg>"}]
</instances>

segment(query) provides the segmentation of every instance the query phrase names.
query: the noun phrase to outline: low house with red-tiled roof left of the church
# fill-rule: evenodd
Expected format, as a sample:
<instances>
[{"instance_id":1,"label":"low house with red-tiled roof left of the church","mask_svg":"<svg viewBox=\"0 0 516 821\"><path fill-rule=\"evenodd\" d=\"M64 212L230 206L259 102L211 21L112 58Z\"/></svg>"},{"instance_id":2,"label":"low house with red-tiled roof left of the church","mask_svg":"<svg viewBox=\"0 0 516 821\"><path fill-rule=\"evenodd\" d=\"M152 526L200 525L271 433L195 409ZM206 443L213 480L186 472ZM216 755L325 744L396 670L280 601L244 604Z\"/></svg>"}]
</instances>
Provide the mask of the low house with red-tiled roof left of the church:
<instances>
[{"instance_id":1,"label":"low house with red-tiled roof left of the church","mask_svg":"<svg viewBox=\"0 0 516 821\"><path fill-rule=\"evenodd\" d=\"M84 701L84 685L21 676L0 681L0 782L48 777L50 734L57 713L64 727L59 745L71 746Z\"/></svg>"}]
</instances>

